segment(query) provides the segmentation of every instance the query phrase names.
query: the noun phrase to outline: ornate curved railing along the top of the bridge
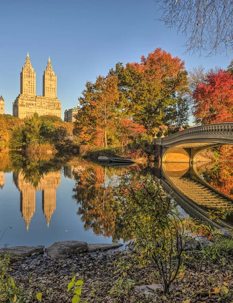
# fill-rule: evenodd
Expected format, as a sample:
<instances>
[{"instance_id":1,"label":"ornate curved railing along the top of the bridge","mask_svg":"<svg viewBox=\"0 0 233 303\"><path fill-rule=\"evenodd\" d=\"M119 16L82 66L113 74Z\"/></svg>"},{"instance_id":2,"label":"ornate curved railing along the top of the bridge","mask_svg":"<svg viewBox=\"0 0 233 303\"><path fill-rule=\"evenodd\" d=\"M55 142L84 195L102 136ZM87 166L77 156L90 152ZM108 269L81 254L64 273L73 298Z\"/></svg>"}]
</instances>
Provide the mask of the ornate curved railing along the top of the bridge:
<instances>
[{"instance_id":1,"label":"ornate curved railing along the top of the bridge","mask_svg":"<svg viewBox=\"0 0 233 303\"><path fill-rule=\"evenodd\" d=\"M233 123L215 123L190 127L164 138L153 139L153 144L166 145L192 137L224 137L233 139Z\"/></svg>"}]
</instances>

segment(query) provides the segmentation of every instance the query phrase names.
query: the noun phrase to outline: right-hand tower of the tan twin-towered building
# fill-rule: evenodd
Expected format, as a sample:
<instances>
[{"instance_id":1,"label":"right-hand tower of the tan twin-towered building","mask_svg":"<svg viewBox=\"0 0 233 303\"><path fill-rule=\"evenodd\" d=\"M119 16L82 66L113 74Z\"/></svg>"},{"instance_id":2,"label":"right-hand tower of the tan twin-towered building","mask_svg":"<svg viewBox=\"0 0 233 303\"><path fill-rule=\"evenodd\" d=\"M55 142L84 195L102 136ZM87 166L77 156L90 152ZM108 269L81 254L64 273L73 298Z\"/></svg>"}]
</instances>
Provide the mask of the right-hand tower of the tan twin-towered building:
<instances>
[{"instance_id":1,"label":"right-hand tower of the tan twin-towered building","mask_svg":"<svg viewBox=\"0 0 233 303\"><path fill-rule=\"evenodd\" d=\"M43 74L43 96L48 98L56 98L56 76L52 70L49 57L46 70Z\"/></svg>"}]
</instances>

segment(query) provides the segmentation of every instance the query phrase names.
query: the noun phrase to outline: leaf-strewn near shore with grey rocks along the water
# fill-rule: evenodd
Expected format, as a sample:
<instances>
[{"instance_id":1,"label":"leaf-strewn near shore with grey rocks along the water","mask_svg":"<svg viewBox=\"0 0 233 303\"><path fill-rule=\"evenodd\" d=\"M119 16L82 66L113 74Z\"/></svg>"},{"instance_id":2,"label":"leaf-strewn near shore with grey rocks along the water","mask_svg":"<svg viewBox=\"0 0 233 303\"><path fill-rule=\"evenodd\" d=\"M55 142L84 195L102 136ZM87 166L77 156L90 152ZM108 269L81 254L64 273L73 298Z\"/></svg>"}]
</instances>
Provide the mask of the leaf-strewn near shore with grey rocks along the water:
<instances>
[{"instance_id":1,"label":"leaf-strewn near shore with grey rocks along the water","mask_svg":"<svg viewBox=\"0 0 233 303\"><path fill-rule=\"evenodd\" d=\"M42 302L71 302L73 294L67 292L67 287L74 276L83 280L81 301L88 303L184 303L186 300L230 303L233 300L233 251L224 258L211 260L203 258L197 241L191 241L184 259L185 271L174 281L170 296L165 297L160 289L153 292L153 285L161 280L153 264L139 264L134 258L134 242L130 249L119 249L119 244L77 242L56 242L45 250L43 246L17 247L18 253L16 248L7 248L13 258L11 276L17 287L26 291L23 302L38 302L35 294L39 292ZM27 256L19 257L22 251Z\"/></svg>"}]
</instances>

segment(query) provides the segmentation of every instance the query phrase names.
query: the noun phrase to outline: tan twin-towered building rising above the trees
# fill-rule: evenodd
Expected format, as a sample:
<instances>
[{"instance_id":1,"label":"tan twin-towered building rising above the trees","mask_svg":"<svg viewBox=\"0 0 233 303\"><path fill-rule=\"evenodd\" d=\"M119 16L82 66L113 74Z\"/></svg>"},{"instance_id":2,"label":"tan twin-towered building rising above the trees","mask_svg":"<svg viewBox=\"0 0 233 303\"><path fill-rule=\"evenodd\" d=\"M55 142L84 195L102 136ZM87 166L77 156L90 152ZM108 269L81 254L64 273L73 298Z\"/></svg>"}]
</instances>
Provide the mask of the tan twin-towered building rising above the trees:
<instances>
[{"instance_id":1,"label":"tan twin-towered building rising above the trees","mask_svg":"<svg viewBox=\"0 0 233 303\"><path fill-rule=\"evenodd\" d=\"M13 102L13 116L26 118L34 113L39 116L52 115L62 118L62 105L56 97L56 75L50 58L43 75L43 95L36 95L36 73L32 68L29 54L20 73L20 94Z\"/></svg>"}]
</instances>

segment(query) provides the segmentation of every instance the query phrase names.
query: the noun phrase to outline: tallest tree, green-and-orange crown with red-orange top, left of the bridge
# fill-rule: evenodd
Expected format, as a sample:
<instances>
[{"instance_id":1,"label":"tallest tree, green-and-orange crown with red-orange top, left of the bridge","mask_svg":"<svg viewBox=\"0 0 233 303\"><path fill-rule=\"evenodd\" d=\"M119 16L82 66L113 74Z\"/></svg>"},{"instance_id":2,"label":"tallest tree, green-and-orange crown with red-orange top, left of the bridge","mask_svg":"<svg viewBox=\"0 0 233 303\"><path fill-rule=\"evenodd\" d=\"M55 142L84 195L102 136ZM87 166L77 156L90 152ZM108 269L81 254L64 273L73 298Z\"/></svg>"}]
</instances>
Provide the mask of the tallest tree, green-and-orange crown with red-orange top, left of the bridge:
<instances>
[{"instance_id":1,"label":"tallest tree, green-and-orange crown with red-orange top, left of the bridge","mask_svg":"<svg viewBox=\"0 0 233 303\"><path fill-rule=\"evenodd\" d=\"M125 68L118 63L110 74L119 79L124 110L149 134L164 123L167 108L178 102L178 93L188 91L184 61L161 48L142 56L140 63L128 63Z\"/></svg>"}]
</instances>

